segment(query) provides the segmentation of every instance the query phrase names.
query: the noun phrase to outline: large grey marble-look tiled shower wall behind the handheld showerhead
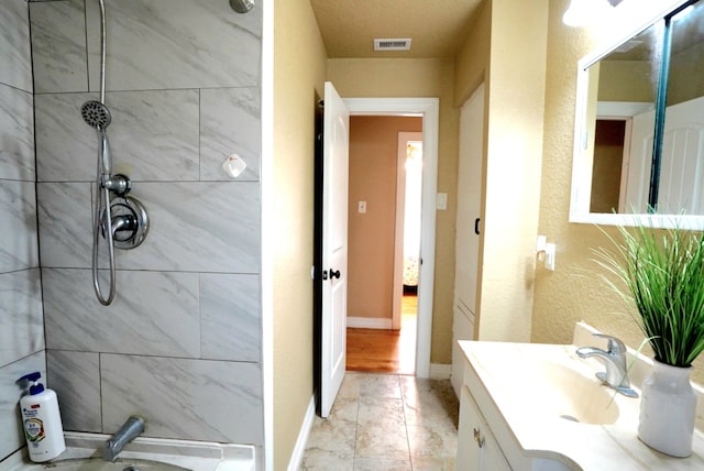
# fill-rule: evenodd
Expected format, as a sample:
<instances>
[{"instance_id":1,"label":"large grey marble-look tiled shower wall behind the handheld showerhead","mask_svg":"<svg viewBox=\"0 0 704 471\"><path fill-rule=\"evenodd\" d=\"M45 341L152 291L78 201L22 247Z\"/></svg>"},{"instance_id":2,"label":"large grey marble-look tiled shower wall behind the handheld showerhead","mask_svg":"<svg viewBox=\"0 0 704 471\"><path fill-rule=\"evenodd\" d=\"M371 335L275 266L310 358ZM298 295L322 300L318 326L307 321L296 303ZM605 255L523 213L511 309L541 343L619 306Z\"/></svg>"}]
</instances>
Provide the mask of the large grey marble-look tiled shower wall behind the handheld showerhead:
<instances>
[{"instance_id":1,"label":"large grey marble-look tiled shower wall behind the handheld showerhead","mask_svg":"<svg viewBox=\"0 0 704 471\"><path fill-rule=\"evenodd\" d=\"M261 3L244 15L227 0L106 10L114 168L152 224L116 251L109 307L90 273L98 140L79 113L99 98L99 3L30 3L47 365L64 427L112 432L140 413L152 437L261 446ZM248 165L238 178L221 169L231 153Z\"/></svg>"}]
</instances>

